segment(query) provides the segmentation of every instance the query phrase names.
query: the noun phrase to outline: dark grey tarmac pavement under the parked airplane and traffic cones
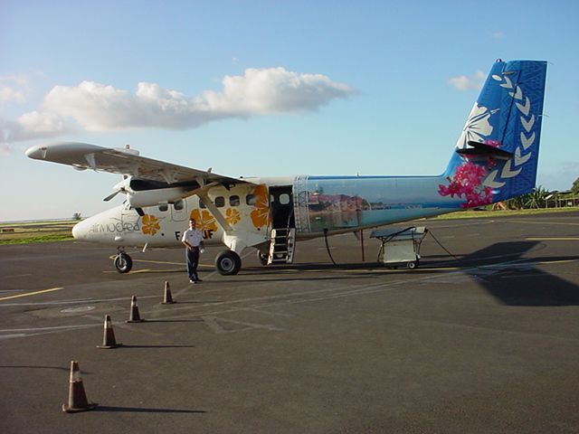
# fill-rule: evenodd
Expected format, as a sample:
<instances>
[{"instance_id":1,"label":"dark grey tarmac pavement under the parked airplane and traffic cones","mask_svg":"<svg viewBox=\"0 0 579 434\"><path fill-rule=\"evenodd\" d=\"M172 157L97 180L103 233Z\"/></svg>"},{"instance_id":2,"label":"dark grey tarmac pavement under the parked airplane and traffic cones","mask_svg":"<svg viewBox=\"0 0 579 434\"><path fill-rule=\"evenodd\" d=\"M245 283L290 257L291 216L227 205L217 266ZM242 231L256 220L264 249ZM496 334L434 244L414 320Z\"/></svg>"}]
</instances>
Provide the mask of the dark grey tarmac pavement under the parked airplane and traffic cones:
<instances>
[{"instance_id":1,"label":"dark grey tarmac pavement under the parked airplane and traffic cones","mask_svg":"<svg viewBox=\"0 0 579 434\"><path fill-rule=\"evenodd\" d=\"M579 432L579 212L412 224L417 269L347 234L337 266L321 239L223 277L207 249L201 285L181 249L120 275L109 247L0 246L0 431ZM71 360L95 410L62 412Z\"/></svg>"}]
</instances>

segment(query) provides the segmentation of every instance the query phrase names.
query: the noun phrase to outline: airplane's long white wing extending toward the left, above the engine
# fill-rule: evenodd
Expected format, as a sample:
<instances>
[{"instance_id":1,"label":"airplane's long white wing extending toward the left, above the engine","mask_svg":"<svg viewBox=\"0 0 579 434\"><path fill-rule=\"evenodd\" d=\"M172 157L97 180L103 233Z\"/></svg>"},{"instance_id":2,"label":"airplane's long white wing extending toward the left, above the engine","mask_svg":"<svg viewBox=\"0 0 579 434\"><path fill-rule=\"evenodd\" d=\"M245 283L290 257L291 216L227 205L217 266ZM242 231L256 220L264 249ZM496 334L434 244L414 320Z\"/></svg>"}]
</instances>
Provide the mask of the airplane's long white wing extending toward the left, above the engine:
<instances>
[{"instance_id":1,"label":"airplane's long white wing extending toward the left, above the engine","mask_svg":"<svg viewBox=\"0 0 579 434\"><path fill-rule=\"evenodd\" d=\"M93 169L167 184L195 182L199 186L204 186L248 183L242 179L213 174L211 171L192 169L139 156L138 151L132 149L109 148L79 142L36 145L26 151L26 156L71 165L78 170Z\"/></svg>"}]
</instances>

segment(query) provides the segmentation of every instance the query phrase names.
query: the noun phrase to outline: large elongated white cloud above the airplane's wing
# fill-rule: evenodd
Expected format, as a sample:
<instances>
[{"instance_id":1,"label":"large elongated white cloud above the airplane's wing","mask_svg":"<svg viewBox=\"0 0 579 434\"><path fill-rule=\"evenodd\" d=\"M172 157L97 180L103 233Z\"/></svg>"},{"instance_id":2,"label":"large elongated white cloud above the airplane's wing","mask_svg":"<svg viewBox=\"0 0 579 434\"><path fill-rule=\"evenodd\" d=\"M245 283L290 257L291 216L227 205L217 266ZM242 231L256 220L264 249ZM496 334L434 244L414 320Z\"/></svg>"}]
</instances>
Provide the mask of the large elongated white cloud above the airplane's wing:
<instances>
[{"instance_id":1,"label":"large elongated white cloud above the airplane's wing","mask_svg":"<svg viewBox=\"0 0 579 434\"><path fill-rule=\"evenodd\" d=\"M44 97L42 109L5 122L5 137L56 137L76 126L87 131L186 129L225 118L314 111L356 93L325 75L284 68L248 69L242 76L225 76L222 84L221 91L207 90L196 97L147 82L138 83L134 94L94 81L55 86Z\"/></svg>"}]
</instances>

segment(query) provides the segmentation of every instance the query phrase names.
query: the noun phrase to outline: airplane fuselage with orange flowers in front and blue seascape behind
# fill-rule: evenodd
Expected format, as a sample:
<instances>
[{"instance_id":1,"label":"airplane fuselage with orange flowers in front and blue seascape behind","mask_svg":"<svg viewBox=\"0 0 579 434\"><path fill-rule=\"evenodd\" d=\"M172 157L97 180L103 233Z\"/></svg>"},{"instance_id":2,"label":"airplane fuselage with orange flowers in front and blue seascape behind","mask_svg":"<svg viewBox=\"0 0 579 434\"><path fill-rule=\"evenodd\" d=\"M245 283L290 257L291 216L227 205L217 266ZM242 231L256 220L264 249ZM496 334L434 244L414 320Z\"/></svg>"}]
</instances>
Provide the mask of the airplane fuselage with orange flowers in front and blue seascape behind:
<instances>
[{"instance_id":1,"label":"airplane fuselage with orange flowers in front and blue seascape behind","mask_svg":"<svg viewBox=\"0 0 579 434\"><path fill-rule=\"evenodd\" d=\"M297 239L359 231L460 209L437 188L441 176L246 178L229 189L214 186L208 199L221 214L215 218L203 201L189 196L176 203L143 208L128 203L78 223L74 238L117 246L179 247L189 219L197 222L207 244L232 250L260 246L271 229L295 227Z\"/></svg>"}]
</instances>

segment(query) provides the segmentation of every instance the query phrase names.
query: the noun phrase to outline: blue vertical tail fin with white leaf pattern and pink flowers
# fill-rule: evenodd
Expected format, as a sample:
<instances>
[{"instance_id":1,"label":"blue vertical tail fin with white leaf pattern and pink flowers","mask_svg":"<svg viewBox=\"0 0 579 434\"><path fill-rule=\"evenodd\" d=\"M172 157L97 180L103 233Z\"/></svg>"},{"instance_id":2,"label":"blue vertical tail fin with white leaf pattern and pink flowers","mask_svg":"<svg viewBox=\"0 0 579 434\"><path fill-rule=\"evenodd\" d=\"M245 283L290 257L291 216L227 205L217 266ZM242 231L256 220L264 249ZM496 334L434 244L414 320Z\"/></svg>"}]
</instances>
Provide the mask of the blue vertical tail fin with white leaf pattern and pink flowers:
<instances>
[{"instance_id":1,"label":"blue vertical tail fin with white leaf pattern and pink flowers","mask_svg":"<svg viewBox=\"0 0 579 434\"><path fill-rule=\"evenodd\" d=\"M462 129L441 195L462 208L504 201L535 188L546 61L498 60Z\"/></svg>"}]
</instances>

